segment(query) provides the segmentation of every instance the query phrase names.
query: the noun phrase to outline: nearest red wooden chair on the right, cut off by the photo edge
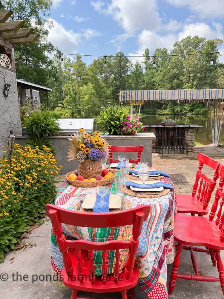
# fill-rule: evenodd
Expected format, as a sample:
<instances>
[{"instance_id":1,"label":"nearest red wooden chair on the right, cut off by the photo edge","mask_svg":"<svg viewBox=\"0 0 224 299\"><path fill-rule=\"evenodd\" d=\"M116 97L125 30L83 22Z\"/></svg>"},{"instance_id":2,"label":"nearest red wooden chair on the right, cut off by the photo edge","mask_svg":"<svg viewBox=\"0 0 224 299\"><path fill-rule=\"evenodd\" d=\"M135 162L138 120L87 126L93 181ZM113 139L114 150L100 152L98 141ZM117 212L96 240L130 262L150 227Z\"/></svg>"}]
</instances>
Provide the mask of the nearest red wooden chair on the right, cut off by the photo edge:
<instances>
[{"instance_id":1,"label":"nearest red wooden chair on the right, cut off by the photo edge","mask_svg":"<svg viewBox=\"0 0 224 299\"><path fill-rule=\"evenodd\" d=\"M174 290L177 278L197 281L220 281L224 294L224 268L220 258L220 250L224 250L224 211L222 211L224 203L224 165L220 166L218 173L221 176L220 183L209 217L195 217L181 213L175 213L174 215L174 240L177 241L178 244L169 282L168 293L170 295ZM217 218L214 220L220 197L222 198L220 201L220 208L217 213ZM203 207L207 208L208 203L209 200L206 199L203 203ZM199 275L194 251L200 252L202 248L194 246L205 246L206 248L210 248L210 251L213 252L217 261L219 277ZM196 275L177 273L182 249L191 250L191 260Z\"/></svg>"}]
</instances>

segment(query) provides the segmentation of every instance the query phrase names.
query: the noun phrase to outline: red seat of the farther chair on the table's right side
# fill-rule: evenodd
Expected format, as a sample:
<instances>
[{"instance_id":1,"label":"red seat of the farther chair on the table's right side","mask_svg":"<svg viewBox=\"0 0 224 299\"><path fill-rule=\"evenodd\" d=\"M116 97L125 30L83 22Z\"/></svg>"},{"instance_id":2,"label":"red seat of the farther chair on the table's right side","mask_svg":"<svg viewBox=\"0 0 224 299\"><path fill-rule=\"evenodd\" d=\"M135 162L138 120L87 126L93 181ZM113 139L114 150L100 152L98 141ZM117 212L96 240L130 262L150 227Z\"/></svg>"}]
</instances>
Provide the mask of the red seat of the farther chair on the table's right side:
<instances>
[{"instance_id":1,"label":"red seat of the farther chair on the table's right side","mask_svg":"<svg viewBox=\"0 0 224 299\"><path fill-rule=\"evenodd\" d=\"M177 194L177 212L207 215L208 208L203 210L203 204L191 194Z\"/></svg>"}]
</instances>

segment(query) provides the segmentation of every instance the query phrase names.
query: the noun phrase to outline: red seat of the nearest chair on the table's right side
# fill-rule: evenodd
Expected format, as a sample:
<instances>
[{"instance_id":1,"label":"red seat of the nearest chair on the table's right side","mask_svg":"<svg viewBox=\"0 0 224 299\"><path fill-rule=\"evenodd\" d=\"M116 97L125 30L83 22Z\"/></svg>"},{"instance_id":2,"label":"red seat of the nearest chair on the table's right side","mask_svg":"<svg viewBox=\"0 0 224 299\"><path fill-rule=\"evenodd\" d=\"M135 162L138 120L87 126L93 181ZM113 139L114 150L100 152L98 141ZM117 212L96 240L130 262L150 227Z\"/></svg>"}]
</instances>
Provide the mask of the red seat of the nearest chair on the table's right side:
<instances>
[{"instance_id":1,"label":"red seat of the nearest chair on the table's right side","mask_svg":"<svg viewBox=\"0 0 224 299\"><path fill-rule=\"evenodd\" d=\"M209 221L207 217L175 213L174 239L185 245L224 250L224 243L220 242L220 230L215 221Z\"/></svg>"}]
</instances>

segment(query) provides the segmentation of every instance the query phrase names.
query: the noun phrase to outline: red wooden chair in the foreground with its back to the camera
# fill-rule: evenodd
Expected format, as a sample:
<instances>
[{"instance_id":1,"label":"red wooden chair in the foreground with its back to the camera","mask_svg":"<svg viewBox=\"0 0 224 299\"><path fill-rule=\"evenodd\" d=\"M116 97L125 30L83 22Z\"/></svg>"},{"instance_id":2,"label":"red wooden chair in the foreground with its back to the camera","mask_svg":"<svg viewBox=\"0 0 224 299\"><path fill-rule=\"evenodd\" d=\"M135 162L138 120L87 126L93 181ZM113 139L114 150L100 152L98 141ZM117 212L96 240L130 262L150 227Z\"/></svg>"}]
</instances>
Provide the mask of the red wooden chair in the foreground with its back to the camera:
<instances>
[{"instance_id":1,"label":"red wooden chair in the foreground with its back to the camera","mask_svg":"<svg viewBox=\"0 0 224 299\"><path fill-rule=\"evenodd\" d=\"M138 237L142 231L142 223L150 212L150 206L129 209L114 213L80 213L46 205L50 217L53 234L56 235L59 250L62 252L64 268L62 269L62 283L72 289L71 299L76 299L78 291L108 293L121 292L122 299L134 297L134 286L138 283L139 274L135 265L135 254L138 249ZM117 227L133 224L132 237L128 241L91 242L85 240L66 240L61 223L83 227ZM125 268L119 273L119 249L129 249ZM107 251L114 250L114 273L107 274ZM82 267L81 251L88 251L87 268ZM102 276L94 275L93 251L102 251ZM86 297L92 298L92 297Z\"/></svg>"}]
</instances>

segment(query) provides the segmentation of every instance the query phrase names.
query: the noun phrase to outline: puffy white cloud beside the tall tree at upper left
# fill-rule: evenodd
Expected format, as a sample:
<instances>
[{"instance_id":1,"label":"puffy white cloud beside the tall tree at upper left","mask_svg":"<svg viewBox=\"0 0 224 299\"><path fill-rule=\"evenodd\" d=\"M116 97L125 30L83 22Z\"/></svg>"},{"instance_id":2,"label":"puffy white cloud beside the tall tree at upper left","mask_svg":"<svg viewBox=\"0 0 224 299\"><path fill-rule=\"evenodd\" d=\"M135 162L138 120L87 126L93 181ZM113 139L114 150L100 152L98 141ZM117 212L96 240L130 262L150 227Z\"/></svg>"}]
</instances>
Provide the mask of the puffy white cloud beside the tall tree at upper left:
<instances>
[{"instance_id":1,"label":"puffy white cloud beside the tall tree at upper left","mask_svg":"<svg viewBox=\"0 0 224 299\"><path fill-rule=\"evenodd\" d=\"M52 42L62 53L77 53L78 45L82 42L81 33L66 30L62 24L59 24L53 19L50 19L50 21L53 22L53 28L47 28L49 31L47 36L48 42Z\"/></svg>"}]
</instances>

